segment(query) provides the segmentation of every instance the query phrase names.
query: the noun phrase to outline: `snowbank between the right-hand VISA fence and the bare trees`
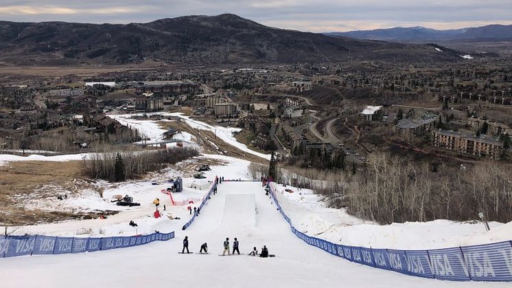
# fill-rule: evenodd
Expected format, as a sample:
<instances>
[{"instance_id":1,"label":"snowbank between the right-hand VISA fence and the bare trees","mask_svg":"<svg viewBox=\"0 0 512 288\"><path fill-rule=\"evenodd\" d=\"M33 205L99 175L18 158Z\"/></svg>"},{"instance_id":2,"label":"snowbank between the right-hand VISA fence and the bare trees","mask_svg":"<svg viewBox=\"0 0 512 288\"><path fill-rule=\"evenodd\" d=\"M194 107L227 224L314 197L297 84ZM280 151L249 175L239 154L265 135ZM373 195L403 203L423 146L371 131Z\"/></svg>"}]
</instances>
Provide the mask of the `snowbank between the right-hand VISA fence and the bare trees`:
<instances>
[{"instance_id":1,"label":"snowbank between the right-hand VISA fence and the bare trees","mask_svg":"<svg viewBox=\"0 0 512 288\"><path fill-rule=\"evenodd\" d=\"M287 192L286 189L293 192ZM481 222L430 222L378 225L351 217L345 210L325 208L311 190L277 185L277 197L294 227L332 243L398 250L426 250L495 243L512 239L512 222L491 222L486 232Z\"/></svg>"}]
</instances>

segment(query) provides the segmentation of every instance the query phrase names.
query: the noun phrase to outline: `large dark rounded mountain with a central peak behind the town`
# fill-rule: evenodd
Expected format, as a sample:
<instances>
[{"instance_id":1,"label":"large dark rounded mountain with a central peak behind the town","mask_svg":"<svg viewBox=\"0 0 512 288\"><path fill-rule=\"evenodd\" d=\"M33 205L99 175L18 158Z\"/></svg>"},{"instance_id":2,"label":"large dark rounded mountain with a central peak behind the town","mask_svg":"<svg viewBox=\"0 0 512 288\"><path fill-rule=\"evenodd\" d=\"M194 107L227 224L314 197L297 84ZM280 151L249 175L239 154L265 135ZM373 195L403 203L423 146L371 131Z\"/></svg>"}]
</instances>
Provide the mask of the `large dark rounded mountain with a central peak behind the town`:
<instances>
[{"instance_id":1,"label":"large dark rounded mountain with a central peak behind the town","mask_svg":"<svg viewBox=\"0 0 512 288\"><path fill-rule=\"evenodd\" d=\"M428 45L283 30L233 14L126 25L0 21L0 61L4 63L130 63L144 58L200 64L460 60Z\"/></svg>"}]
</instances>

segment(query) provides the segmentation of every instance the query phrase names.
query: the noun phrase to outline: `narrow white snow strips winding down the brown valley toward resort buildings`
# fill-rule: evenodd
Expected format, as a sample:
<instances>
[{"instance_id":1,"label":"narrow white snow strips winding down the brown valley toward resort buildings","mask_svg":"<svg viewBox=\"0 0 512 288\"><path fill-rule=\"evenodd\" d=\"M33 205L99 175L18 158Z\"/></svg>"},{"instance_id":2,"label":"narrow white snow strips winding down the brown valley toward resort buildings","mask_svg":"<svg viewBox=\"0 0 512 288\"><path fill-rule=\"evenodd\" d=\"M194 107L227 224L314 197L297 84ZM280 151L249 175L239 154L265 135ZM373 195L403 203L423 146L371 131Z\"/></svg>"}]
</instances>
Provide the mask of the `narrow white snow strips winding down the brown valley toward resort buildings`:
<instances>
[{"instance_id":1,"label":"narrow white snow strips winding down the brown valley toward resort buildings","mask_svg":"<svg viewBox=\"0 0 512 288\"><path fill-rule=\"evenodd\" d=\"M141 113L138 114L121 114L121 115L108 115L109 117L119 121L121 124L128 125L132 128L137 129L141 134L146 135L150 138L152 142L159 142L163 140L164 129L161 129L156 121L154 120L135 120L132 119L133 116L143 115ZM222 127L222 126L212 126L210 124L206 124L205 122L200 122L198 120L193 120L188 116L183 115L183 113L166 113L166 112L156 112L156 113L147 113L146 115L163 115L163 116L174 116L183 119L189 126L193 129L211 131L217 135L217 137L234 146L241 151L244 151L249 154L256 155L258 157L270 160L269 154L259 153L253 151L251 148L248 148L245 144L238 142L236 140L233 133L241 131L240 128L233 127Z\"/></svg>"}]
</instances>

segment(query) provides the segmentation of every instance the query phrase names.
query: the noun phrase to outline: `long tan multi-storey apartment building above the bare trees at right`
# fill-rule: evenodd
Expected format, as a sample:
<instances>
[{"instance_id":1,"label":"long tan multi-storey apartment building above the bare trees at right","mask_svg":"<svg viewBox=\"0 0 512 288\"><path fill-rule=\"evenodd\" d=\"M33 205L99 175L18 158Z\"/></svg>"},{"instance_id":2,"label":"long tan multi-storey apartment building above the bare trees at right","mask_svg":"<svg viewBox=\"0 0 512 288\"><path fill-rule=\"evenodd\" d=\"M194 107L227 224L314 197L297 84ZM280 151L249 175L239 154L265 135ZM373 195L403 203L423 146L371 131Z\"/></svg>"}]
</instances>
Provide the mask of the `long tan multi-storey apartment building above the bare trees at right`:
<instances>
[{"instance_id":1,"label":"long tan multi-storey apartment building above the bare trees at right","mask_svg":"<svg viewBox=\"0 0 512 288\"><path fill-rule=\"evenodd\" d=\"M431 145L455 151L458 154L489 157L495 160L500 159L503 153L503 142L496 137L476 136L472 133L443 129L432 131Z\"/></svg>"}]
</instances>

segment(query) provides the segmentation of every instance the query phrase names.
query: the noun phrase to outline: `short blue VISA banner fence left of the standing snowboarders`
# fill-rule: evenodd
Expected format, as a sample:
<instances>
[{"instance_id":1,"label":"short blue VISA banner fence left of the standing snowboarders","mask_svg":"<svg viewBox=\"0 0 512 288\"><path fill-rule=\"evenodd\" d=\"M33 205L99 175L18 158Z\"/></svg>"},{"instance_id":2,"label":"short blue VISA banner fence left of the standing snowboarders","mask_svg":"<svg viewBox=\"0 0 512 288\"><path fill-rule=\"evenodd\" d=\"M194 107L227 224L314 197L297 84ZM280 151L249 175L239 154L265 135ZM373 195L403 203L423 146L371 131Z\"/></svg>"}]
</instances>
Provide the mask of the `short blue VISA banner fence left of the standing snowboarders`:
<instances>
[{"instance_id":1,"label":"short blue VISA banner fence left of the standing snowboarders","mask_svg":"<svg viewBox=\"0 0 512 288\"><path fill-rule=\"evenodd\" d=\"M1 236L0 257L40 254L95 252L132 247L174 238L174 232L138 236L61 237L61 236Z\"/></svg>"}]
</instances>

